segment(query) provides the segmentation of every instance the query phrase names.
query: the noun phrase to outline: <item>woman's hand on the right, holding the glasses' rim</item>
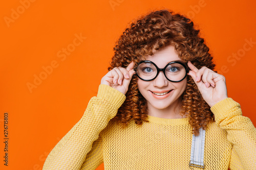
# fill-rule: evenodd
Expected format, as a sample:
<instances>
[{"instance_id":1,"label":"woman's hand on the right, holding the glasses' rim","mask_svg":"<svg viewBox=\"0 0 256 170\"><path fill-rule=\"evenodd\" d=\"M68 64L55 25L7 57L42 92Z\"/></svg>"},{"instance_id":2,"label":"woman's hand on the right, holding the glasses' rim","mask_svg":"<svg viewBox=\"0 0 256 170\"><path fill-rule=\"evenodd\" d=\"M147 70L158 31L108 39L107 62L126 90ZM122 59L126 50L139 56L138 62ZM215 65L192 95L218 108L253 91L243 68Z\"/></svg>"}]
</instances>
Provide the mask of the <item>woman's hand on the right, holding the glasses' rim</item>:
<instances>
[{"instance_id":1,"label":"woman's hand on the right, holding the glasses' rim","mask_svg":"<svg viewBox=\"0 0 256 170\"><path fill-rule=\"evenodd\" d=\"M210 107L228 98L224 76L219 75L217 72L205 66L198 69L190 61L188 61L187 65L191 69L188 75L193 78L203 99Z\"/></svg>"}]
</instances>

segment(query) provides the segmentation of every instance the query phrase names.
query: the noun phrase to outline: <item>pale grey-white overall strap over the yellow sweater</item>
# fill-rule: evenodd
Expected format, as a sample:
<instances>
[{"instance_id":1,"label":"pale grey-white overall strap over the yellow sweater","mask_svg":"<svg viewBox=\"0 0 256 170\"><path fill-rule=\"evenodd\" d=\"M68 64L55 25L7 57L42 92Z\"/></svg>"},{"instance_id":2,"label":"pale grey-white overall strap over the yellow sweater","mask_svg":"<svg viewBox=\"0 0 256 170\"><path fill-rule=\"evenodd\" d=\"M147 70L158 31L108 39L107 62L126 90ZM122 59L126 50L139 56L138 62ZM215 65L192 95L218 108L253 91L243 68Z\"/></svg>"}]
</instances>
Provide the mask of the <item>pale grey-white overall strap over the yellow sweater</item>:
<instances>
[{"instance_id":1,"label":"pale grey-white overall strap over the yellow sweater","mask_svg":"<svg viewBox=\"0 0 256 170\"><path fill-rule=\"evenodd\" d=\"M192 144L191 144L191 153L190 153L190 166L200 167L204 169L204 143L205 143L205 130L203 128L199 129L199 135L195 136L193 134Z\"/></svg>"}]
</instances>

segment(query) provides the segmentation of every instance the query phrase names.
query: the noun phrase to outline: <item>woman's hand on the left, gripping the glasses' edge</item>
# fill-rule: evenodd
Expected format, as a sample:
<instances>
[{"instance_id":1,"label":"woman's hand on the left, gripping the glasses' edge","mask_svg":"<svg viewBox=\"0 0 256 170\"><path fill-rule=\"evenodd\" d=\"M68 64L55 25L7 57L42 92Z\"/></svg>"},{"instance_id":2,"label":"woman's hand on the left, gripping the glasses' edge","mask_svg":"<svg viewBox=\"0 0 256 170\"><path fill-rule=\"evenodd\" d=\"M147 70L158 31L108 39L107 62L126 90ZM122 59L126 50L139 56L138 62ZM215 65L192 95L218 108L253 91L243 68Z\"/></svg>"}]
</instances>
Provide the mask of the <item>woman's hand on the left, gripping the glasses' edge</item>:
<instances>
[{"instance_id":1,"label":"woman's hand on the left, gripping the glasses' edge","mask_svg":"<svg viewBox=\"0 0 256 170\"><path fill-rule=\"evenodd\" d=\"M134 62L131 62L126 68L115 67L110 70L102 79L100 84L111 86L125 94L135 71Z\"/></svg>"}]
</instances>

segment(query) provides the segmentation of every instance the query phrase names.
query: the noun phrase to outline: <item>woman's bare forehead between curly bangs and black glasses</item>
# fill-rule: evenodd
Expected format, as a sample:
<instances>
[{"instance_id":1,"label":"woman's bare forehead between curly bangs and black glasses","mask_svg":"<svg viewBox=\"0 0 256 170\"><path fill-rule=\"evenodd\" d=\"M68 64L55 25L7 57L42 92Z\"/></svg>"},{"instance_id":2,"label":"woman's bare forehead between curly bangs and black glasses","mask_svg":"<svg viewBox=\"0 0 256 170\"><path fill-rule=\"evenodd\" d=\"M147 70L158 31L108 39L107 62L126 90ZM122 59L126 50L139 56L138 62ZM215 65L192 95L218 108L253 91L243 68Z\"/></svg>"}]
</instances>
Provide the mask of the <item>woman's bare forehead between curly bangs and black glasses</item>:
<instances>
[{"instance_id":1,"label":"woman's bare forehead between curly bangs and black glasses","mask_svg":"<svg viewBox=\"0 0 256 170\"><path fill-rule=\"evenodd\" d=\"M172 61L181 61L181 59L178 57L178 54L175 52L173 45L168 45L161 50L154 52L154 55L146 56L145 59L154 62L160 67L163 67Z\"/></svg>"}]
</instances>

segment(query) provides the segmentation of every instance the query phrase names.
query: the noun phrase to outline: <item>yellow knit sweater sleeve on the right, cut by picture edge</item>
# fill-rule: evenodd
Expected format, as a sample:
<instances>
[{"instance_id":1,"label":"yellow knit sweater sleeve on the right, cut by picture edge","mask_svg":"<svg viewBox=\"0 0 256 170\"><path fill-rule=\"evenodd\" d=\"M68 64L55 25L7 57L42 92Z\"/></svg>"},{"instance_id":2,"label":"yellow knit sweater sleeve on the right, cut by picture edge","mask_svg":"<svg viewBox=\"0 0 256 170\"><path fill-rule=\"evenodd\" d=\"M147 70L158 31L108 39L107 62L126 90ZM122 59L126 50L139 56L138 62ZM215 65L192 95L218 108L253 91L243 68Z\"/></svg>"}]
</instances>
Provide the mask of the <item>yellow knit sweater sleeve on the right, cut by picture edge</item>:
<instances>
[{"instance_id":1,"label":"yellow knit sweater sleeve on the right, cut by picture edge","mask_svg":"<svg viewBox=\"0 0 256 170\"><path fill-rule=\"evenodd\" d=\"M211 111L233 145L229 168L256 169L256 129L248 117L242 116L240 104L227 98L212 106Z\"/></svg>"}]
</instances>

